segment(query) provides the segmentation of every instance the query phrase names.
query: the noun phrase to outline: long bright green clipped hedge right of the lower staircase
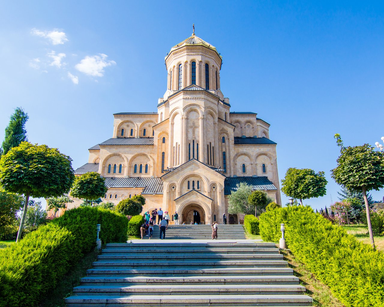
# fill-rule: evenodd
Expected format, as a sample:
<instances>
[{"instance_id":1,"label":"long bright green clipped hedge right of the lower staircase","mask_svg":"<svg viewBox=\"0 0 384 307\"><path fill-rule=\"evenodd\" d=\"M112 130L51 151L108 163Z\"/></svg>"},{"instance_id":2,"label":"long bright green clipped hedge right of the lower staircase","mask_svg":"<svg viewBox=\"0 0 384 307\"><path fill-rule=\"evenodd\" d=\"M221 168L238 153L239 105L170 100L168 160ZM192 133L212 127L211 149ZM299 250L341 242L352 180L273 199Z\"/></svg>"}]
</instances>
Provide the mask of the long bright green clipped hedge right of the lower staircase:
<instances>
[{"instance_id":1,"label":"long bright green clipped hedge right of the lower staircase","mask_svg":"<svg viewBox=\"0 0 384 307\"><path fill-rule=\"evenodd\" d=\"M308 206L279 208L260 216L263 240L277 242L280 223L295 258L327 284L347 307L382 307L384 253L374 251Z\"/></svg>"}]
</instances>

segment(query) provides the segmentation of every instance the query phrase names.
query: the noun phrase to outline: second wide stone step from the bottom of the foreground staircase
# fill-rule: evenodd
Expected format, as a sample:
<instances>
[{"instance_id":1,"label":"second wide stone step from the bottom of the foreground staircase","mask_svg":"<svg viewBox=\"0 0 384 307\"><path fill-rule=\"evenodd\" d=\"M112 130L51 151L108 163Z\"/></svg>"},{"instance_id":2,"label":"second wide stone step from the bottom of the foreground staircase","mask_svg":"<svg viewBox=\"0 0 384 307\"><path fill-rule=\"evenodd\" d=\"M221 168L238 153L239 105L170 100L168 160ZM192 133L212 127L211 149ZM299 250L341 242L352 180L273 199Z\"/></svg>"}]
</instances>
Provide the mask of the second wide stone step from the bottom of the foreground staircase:
<instances>
[{"instance_id":1,"label":"second wide stone step from the bottom of the foreground staircase","mask_svg":"<svg viewBox=\"0 0 384 307\"><path fill-rule=\"evenodd\" d=\"M151 285L150 291L143 285L130 286L78 286L73 292L81 295L219 295L219 294L303 294L305 287L300 285Z\"/></svg>"}]
</instances>

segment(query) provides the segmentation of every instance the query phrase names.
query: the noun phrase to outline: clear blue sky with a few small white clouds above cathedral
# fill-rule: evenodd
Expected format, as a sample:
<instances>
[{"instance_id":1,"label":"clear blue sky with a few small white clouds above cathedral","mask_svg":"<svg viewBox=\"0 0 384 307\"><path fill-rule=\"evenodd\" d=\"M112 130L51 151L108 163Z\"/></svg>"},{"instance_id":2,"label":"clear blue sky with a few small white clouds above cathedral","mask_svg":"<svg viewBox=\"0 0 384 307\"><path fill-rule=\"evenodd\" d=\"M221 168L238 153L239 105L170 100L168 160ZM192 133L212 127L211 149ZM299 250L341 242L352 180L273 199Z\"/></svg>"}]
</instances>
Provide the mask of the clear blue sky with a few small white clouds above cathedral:
<instances>
[{"instance_id":1,"label":"clear blue sky with a few small white clouds above cathedral","mask_svg":"<svg viewBox=\"0 0 384 307\"><path fill-rule=\"evenodd\" d=\"M271 124L279 177L289 167L324 171L327 195L306 203L335 201L333 135L346 145L384 135L380 2L3 1L0 131L21 106L31 142L83 165L89 147L112 137L114 112L157 111L164 56L192 34L192 23L223 56L231 111L257 112Z\"/></svg>"}]
</instances>

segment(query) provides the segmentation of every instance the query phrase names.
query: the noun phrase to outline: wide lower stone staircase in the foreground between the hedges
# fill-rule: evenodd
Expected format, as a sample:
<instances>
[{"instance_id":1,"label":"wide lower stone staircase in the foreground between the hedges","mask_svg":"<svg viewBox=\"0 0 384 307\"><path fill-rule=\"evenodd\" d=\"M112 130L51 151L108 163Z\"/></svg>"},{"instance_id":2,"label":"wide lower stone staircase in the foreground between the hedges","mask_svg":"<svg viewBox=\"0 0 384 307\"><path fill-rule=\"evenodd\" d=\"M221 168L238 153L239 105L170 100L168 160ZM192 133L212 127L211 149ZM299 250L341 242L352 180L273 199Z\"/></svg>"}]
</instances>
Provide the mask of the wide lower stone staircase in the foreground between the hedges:
<instances>
[{"instance_id":1,"label":"wide lower stone staircase in the foreground between the hedges","mask_svg":"<svg viewBox=\"0 0 384 307\"><path fill-rule=\"evenodd\" d=\"M67 306L312 305L273 243L136 241L107 244Z\"/></svg>"}]
</instances>

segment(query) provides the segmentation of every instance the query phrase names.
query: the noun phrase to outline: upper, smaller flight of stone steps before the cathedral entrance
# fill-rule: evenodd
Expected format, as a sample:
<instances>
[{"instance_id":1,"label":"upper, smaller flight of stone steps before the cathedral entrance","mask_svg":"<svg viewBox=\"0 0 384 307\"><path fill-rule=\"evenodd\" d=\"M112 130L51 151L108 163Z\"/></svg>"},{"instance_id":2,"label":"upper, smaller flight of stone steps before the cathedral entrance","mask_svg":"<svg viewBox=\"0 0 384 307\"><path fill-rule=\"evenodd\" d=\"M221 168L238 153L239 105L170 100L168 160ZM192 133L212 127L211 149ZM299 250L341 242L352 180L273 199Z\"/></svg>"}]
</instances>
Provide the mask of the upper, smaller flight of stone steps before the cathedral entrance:
<instances>
[{"instance_id":1,"label":"upper, smaller flight of stone steps before the cathedral entrance","mask_svg":"<svg viewBox=\"0 0 384 307\"><path fill-rule=\"evenodd\" d=\"M154 226L152 239L159 239L159 226ZM144 237L149 239L148 236ZM226 240L245 239L243 225L217 226L217 238ZM169 225L166 239L212 239L211 225Z\"/></svg>"}]
</instances>

